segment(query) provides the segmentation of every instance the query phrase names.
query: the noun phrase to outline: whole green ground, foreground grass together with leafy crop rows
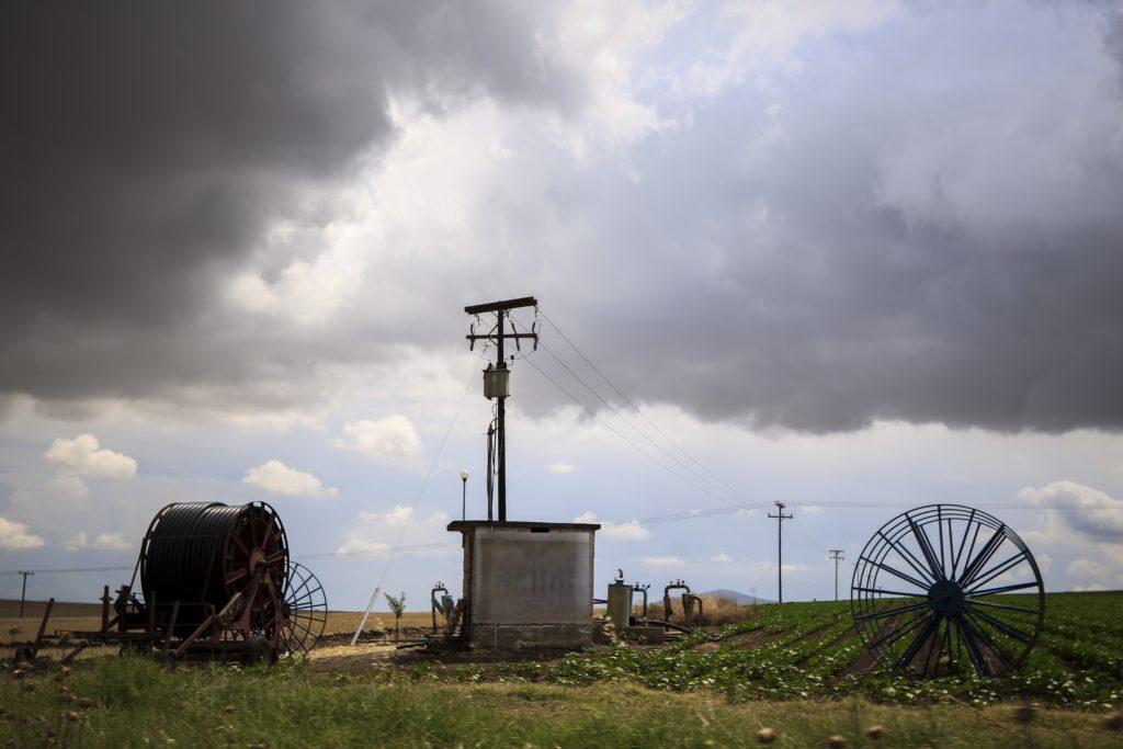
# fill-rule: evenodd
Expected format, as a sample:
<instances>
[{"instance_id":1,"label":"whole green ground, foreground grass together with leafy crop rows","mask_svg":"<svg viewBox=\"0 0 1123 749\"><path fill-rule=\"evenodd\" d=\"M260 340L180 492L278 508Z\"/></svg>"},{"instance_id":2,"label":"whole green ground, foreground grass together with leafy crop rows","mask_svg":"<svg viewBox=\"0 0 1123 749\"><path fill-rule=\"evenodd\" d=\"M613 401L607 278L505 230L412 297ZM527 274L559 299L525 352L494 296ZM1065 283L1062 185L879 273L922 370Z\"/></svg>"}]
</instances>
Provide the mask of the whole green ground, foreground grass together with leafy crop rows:
<instances>
[{"instance_id":1,"label":"whole green ground, foreground grass together with leafy crop rows","mask_svg":"<svg viewBox=\"0 0 1123 749\"><path fill-rule=\"evenodd\" d=\"M564 656L329 641L272 668L168 670L115 655L70 673L9 669L0 741L702 747L756 746L769 728L773 746L788 747L828 746L832 734L846 746L1123 746L1123 593L1049 595L1041 641L1001 678L885 674L848 603L741 611L741 621L665 646ZM875 725L880 738L867 734Z\"/></svg>"}]
</instances>

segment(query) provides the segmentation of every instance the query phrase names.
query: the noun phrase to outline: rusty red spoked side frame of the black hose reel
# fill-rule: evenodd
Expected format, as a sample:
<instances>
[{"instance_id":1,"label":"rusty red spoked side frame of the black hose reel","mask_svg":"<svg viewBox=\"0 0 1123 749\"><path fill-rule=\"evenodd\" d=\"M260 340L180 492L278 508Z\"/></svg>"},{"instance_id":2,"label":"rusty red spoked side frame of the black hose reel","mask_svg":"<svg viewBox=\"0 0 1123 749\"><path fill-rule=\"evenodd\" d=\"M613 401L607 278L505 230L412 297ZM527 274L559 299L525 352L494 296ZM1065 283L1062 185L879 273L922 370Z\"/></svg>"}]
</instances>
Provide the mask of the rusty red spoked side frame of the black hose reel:
<instances>
[{"instance_id":1,"label":"rusty red spoked side frame of the black hose reel","mask_svg":"<svg viewBox=\"0 0 1123 749\"><path fill-rule=\"evenodd\" d=\"M261 636L275 657L286 624L282 592L289 568L289 540L276 511L265 502L244 505L222 558L223 584L231 596L241 593L246 600L238 616L212 632L212 641Z\"/></svg>"}]
</instances>

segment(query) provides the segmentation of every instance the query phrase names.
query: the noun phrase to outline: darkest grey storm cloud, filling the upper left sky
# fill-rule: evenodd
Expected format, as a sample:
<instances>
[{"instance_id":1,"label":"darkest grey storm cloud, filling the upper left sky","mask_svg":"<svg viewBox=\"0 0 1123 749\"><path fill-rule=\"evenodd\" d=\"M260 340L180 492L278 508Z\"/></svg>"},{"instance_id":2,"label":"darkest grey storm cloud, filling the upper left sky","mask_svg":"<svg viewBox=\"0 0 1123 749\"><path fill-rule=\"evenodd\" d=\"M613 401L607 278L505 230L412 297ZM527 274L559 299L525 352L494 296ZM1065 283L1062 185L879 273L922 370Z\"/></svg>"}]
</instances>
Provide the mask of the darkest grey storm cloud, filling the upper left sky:
<instances>
[{"instance_id":1,"label":"darkest grey storm cloud, filling the upper left sky","mask_svg":"<svg viewBox=\"0 0 1123 749\"><path fill-rule=\"evenodd\" d=\"M579 97L536 54L528 12L493 3L16 2L0 16L0 399L283 368L216 312L219 282L270 221L337 214L336 188L393 136L394 92L437 109Z\"/></svg>"}]
</instances>

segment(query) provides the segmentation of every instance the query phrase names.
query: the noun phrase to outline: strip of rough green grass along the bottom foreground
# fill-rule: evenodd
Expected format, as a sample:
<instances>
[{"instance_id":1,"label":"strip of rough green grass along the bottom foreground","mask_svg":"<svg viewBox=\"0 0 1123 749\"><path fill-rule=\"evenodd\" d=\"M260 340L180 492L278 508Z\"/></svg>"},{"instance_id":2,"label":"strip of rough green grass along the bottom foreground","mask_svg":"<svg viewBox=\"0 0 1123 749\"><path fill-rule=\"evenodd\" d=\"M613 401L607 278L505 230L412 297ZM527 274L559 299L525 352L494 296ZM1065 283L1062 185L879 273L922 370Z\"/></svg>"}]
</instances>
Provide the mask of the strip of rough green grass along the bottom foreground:
<instances>
[{"instance_id":1,"label":"strip of rough green grass along the bottom foreground","mask_svg":"<svg viewBox=\"0 0 1123 749\"><path fill-rule=\"evenodd\" d=\"M1103 715L1044 710L1023 725L1011 706L903 707L862 700L730 702L631 684L584 688L539 684L440 684L423 673L386 682L275 668L181 666L106 658L56 679L57 669L0 678L0 741L12 746L268 747L738 747L776 730L773 746L1120 746ZM34 684L30 692L24 685ZM90 696L77 709L63 700ZM227 710L232 709L230 712ZM75 720L65 718L73 711ZM866 738L873 724L885 737Z\"/></svg>"}]
</instances>

